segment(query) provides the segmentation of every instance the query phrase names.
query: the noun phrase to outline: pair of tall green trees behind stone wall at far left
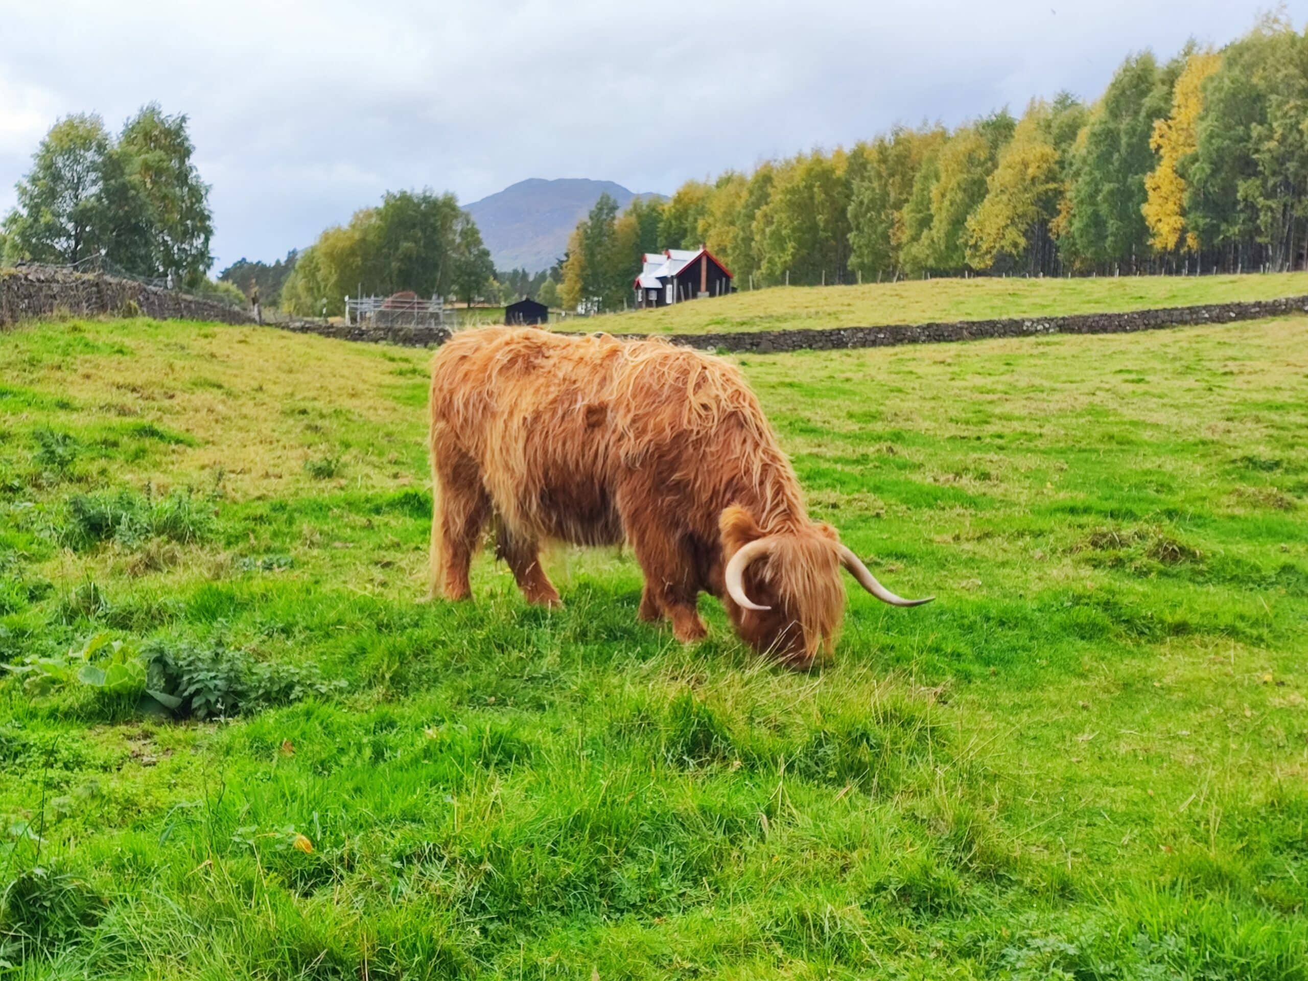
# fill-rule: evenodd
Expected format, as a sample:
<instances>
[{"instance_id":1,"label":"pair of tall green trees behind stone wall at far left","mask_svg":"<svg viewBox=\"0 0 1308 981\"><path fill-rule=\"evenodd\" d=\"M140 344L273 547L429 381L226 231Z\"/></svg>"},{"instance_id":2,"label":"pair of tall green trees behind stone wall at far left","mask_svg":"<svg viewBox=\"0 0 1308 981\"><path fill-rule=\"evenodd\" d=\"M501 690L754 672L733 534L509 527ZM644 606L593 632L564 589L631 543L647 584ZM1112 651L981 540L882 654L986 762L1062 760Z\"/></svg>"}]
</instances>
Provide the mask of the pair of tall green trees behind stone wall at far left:
<instances>
[{"instance_id":1,"label":"pair of tall green trees behind stone wall at far left","mask_svg":"<svg viewBox=\"0 0 1308 981\"><path fill-rule=\"evenodd\" d=\"M213 218L194 152L187 118L153 102L116 136L94 114L60 119L17 184L0 256L203 285Z\"/></svg>"}]
</instances>

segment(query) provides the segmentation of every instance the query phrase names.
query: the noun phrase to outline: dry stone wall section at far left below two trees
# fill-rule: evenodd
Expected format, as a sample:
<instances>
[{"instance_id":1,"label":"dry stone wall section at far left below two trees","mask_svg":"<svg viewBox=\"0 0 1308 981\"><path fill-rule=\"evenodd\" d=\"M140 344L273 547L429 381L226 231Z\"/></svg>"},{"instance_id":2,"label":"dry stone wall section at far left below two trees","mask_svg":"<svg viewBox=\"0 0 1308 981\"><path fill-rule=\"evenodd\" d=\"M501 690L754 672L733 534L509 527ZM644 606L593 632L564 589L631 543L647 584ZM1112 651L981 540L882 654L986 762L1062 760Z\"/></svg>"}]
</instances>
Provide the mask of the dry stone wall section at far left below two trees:
<instances>
[{"instance_id":1,"label":"dry stone wall section at far left below two trees","mask_svg":"<svg viewBox=\"0 0 1308 981\"><path fill-rule=\"evenodd\" d=\"M101 273L46 266L0 269L0 327L38 317L153 317L160 320L251 323L247 310L216 300Z\"/></svg>"}]
</instances>

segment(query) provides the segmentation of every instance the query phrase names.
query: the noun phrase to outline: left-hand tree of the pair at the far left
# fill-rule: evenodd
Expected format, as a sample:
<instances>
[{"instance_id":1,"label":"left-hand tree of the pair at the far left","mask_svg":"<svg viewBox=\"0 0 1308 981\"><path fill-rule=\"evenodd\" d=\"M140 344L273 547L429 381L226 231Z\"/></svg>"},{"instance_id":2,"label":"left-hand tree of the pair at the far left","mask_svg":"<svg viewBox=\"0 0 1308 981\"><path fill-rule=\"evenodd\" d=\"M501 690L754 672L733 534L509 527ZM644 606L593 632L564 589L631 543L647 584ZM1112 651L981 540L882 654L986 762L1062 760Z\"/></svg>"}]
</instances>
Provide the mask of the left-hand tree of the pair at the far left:
<instances>
[{"instance_id":1,"label":"left-hand tree of the pair at the far left","mask_svg":"<svg viewBox=\"0 0 1308 981\"><path fill-rule=\"evenodd\" d=\"M55 123L17 195L18 207L5 218L12 258L75 264L105 255L137 271L148 251L141 203L98 115Z\"/></svg>"}]
</instances>

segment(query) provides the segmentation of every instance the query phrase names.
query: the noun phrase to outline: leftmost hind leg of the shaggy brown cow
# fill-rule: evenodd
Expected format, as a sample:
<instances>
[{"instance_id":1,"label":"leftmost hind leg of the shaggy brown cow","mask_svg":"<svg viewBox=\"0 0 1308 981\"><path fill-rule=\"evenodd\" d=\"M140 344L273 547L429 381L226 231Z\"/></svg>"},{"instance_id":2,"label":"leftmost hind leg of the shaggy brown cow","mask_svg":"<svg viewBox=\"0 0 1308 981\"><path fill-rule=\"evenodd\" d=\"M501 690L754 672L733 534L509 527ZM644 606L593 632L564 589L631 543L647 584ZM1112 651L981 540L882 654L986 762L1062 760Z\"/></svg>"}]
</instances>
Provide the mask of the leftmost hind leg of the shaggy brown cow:
<instances>
[{"instance_id":1,"label":"leftmost hind leg of the shaggy brown cow","mask_svg":"<svg viewBox=\"0 0 1308 981\"><path fill-rule=\"evenodd\" d=\"M432 453L430 596L467 599L468 568L490 517L490 498L476 462L437 442Z\"/></svg>"}]
</instances>

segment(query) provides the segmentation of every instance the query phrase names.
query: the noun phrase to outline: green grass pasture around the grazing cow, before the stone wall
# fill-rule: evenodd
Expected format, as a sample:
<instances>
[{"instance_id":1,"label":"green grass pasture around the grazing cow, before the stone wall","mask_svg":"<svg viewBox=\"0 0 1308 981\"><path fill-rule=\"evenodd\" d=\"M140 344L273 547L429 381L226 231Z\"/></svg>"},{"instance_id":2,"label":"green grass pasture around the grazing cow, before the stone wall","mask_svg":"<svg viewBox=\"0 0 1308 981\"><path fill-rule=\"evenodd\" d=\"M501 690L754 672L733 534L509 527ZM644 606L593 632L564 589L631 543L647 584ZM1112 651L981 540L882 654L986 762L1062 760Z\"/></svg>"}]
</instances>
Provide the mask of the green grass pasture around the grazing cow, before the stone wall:
<instances>
[{"instance_id":1,"label":"green grass pasture around the grazing cow, before the stone wall","mask_svg":"<svg viewBox=\"0 0 1308 981\"><path fill-rule=\"evenodd\" d=\"M0 335L0 976L1308 977L1308 320L742 360L938 596L811 675L415 603L426 358Z\"/></svg>"}]
</instances>

